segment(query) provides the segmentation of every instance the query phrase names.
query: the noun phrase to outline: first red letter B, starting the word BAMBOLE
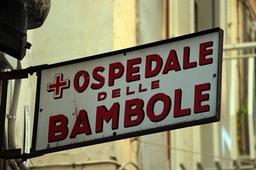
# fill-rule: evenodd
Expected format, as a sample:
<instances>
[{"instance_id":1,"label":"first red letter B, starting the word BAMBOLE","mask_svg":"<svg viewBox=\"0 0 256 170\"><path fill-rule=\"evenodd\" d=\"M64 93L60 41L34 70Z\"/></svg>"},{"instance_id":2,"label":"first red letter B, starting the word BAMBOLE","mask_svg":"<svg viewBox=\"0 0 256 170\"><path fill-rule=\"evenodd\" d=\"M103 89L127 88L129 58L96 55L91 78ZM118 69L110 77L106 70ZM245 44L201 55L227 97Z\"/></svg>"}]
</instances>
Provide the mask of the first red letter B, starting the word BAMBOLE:
<instances>
[{"instance_id":1,"label":"first red letter B, starting the word BAMBOLE","mask_svg":"<svg viewBox=\"0 0 256 170\"><path fill-rule=\"evenodd\" d=\"M57 125L59 123L59 125ZM63 114L49 117L48 142L64 140L68 134L68 119ZM60 134L56 134L60 133Z\"/></svg>"}]
</instances>

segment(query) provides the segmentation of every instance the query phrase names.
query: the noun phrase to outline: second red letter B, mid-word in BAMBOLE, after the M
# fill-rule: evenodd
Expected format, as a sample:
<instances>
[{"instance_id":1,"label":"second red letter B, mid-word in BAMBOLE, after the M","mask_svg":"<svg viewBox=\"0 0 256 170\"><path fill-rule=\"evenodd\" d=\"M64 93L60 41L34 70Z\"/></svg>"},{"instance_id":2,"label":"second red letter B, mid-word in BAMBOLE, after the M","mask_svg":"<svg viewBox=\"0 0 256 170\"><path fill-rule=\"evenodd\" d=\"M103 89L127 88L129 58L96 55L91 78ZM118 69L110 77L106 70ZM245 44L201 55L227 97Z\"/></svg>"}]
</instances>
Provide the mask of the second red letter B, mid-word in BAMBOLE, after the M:
<instances>
[{"instance_id":1,"label":"second red letter B, mid-word in BAMBOLE, after the M","mask_svg":"<svg viewBox=\"0 0 256 170\"><path fill-rule=\"evenodd\" d=\"M124 110L124 127L132 127L139 125L144 117L145 113L143 110L144 102L141 99L131 99L125 101ZM132 120L132 117L137 116L136 119Z\"/></svg>"}]
</instances>

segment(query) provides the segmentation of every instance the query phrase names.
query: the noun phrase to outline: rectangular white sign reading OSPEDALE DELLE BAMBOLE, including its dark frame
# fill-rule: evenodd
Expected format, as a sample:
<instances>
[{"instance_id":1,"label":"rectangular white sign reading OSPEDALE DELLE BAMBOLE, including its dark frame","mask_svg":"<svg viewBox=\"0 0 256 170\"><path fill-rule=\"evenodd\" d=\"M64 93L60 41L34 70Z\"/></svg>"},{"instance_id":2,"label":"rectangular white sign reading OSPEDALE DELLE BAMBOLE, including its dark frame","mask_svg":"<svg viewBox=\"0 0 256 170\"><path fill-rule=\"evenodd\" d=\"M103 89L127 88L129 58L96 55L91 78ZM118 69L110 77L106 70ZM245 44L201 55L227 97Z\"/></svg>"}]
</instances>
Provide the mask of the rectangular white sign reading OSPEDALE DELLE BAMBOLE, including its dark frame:
<instances>
[{"instance_id":1,"label":"rectangular white sign reading OSPEDALE DELLE BAMBOLE, including its dark frame","mask_svg":"<svg viewBox=\"0 0 256 170\"><path fill-rule=\"evenodd\" d=\"M216 28L41 68L32 151L218 121L222 41Z\"/></svg>"}]
</instances>

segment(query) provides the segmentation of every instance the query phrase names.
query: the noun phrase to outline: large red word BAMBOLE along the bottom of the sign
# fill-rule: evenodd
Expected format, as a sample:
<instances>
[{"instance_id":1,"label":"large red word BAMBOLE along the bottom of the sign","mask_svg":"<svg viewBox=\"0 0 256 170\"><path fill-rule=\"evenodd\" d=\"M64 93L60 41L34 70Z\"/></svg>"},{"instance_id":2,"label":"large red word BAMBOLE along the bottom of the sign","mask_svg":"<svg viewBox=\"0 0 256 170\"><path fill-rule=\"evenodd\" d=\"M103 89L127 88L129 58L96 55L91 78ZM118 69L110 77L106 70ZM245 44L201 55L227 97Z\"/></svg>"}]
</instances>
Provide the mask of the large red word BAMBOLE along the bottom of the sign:
<instances>
[{"instance_id":1,"label":"large red word BAMBOLE along the bottom of the sign","mask_svg":"<svg viewBox=\"0 0 256 170\"><path fill-rule=\"evenodd\" d=\"M201 105L203 101L209 100L209 94L202 94L203 91L210 90L210 83L199 84L195 86L195 96L194 96L194 113L203 113L210 110L210 106L208 104ZM163 110L159 115L154 114L154 104L157 101L163 102ZM175 98L174 98L174 117L182 117L188 116L191 114L191 109L181 109L182 108L182 90L175 90ZM160 122L170 112L170 105L172 101L170 97L164 93L157 93L152 96L146 108L143 108L144 103L143 100L135 98L131 100L125 101L125 112L124 112L124 124L123 127L133 127L137 126L144 120L145 110L146 115L152 122ZM95 129L96 133L103 132L103 121L105 120L107 123L112 119L112 130L118 129L119 127L119 114L120 114L120 103L114 103L111 108L108 110L104 105L97 107L96 112L96 123ZM133 119L136 117L135 119ZM59 122L56 125L56 122ZM63 115L54 115L49 118L49 132L48 132L48 142L55 142L64 140L68 135L68 118ZM61 132L60 134L57 134ZM86 134L91 135L91 125L90 120L88 118L88 113L86 110L79 110L78 116L73 125L71 134L69 138L75 138L77 134Z\"/></svg>"}]
</instances>

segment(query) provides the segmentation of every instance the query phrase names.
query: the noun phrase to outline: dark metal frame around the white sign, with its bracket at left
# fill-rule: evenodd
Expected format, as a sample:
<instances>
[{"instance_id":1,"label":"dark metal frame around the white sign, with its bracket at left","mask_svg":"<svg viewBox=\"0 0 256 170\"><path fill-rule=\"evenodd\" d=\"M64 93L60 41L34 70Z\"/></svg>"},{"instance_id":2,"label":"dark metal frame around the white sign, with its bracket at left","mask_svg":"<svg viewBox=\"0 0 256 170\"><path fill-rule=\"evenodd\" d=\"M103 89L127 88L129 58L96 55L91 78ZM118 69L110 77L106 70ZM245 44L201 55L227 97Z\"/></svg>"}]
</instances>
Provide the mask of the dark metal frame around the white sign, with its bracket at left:
<instances>
[{"instance_id":1,"label":"dark metal frame around the white sign, with its bracket at left","mask_svg":"<svg viewBox=\"0 0 256 170\"><path fill-rule=\"evenodd\" d=\"M165 127L159 127L159 128L155 128L155 129L143 130L143 131L133 132L130 134L121 134L118 136L113 135L112 137L87 141L86 143L75 143L75 144L69 144L69 145L65 145L65 146L36 151L36 138L37 138L37 126L38 126L38 121L39 121L38 117L39 117L39 100L40 100L40 85L41 85L42 70L60 67L60 66L66 66L66 65L70 65L70 64L74 64L74 63L84 62L84 61L100 59L100 58L113 56L113 55L117 55L117 54L125 54L128 52L141 50L144 48L150 48L150 47L154 47L154 46L164 45L167 43L177 42L177 41L194 38L194 37L198 37L198 36L202 36L202 35L207 35L210 33L216 33L216 32L219 34L216 117L203 119L203 120L196 120L196 121L191 121L191 122L185 122L182 124L170 125L170 126L165 126ZM52 64L52 65L37 66L37 67L34 67L33 69L32 68L24 69L23 72L25 72L25 74L29 74L29 73L31 74L33 72L37 72L37 92L36 92L36 105L35 105L33 136L32 136L32 147L31 147L30 153L28 153L28 154L25 153L25 155L23 154L23 156L25 156L25 158L31 158L31 157L36 157L36 156L43 155L46 153L57 152L57 151L61 151L61 150L89 146L89 145L94 145L94 144L99 144L99 143L104 143L104 142L109 142L109 141L114 141L114 140L120 140L120 139L124 139L124 138L129 138L129 137L141 136L141 135L146 135L146 134L151 134L151 133L162 132L162 131L166 131L166 130L173 130L173 129L177 129L177 128L183 128L183 127L189 127L189 126L219 121L220 120L220 101L221 101L220 100L221 99L221 78L222 78L221 77L221 75L222 75L222 51L223 51L223 30L221 30L220 28L214 28L214 29L210 29L210 30L206 30L206 31L198 32L198 33L184 35L184 36L180 36L180 37L176 37L176 38L172 38L172 39L162 40L162 41L145 44L145 45L141 45L141 46L136 46L136 47L132 47L132 48L128 48L128 49L123 49L123 50L119 50L119 51L114 51L114 52L110 52L110 53L99 54L99 55L95 55L95 56L91 56L91 57L61 62L61 63L57 63L57 64ZM17 79L17 78L19 78L19 77L15 77L13 79ZM27 78L27 77L23 76L21 78ZM6 82L7 80L9 80L9 78L8 78L8 76L3 75L3 76L1 76L1 80L4 80L4 82ZM5 87L5 86L3 86L3 88L7 89L7 87ZM5 97L5 95L4 95L4 97ZM2 100L3 100L3 95L2 95ZM6 106L3 104L1 104L1 113L0 113L1 114L0 116L2 116L2 117L3 117L3 115L6 114L5 113L6 109L4 108ZM0 131L1 134L2 134L2 131L3 130L1 129L1 131ZM3 135L1 135L1 136L3 136ZM1 139L1 141L2 141L2 139ZM0 144L3 145L3 142ZM1 158L1 154L0 154L0 158Z\"/></svg>"}]
</instances>

